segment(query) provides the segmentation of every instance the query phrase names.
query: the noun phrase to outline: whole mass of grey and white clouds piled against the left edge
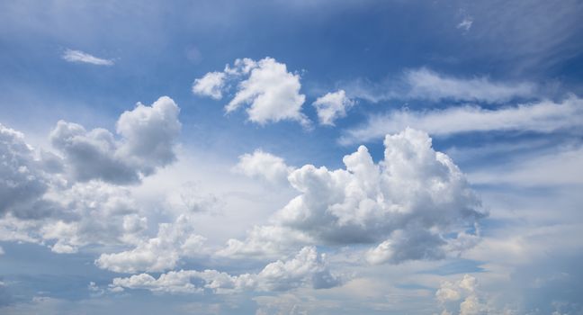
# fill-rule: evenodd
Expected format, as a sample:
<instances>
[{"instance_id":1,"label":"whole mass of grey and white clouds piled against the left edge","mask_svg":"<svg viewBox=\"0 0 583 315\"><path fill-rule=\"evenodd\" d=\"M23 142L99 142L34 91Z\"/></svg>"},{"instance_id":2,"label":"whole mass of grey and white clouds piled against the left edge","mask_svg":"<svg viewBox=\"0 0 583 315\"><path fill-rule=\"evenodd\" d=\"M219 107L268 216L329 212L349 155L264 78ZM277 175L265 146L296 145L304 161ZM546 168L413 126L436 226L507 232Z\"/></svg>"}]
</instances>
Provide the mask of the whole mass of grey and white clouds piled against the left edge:
<instances>
[{"instance_id":1,"label":"whole mass of grey and white clouds piled against the left edge","mask_svg":"<svg viewBox=\"0 0 583 315\"><path fill-rule=\"evenodd\" d=\"M175 160L178 106L161 97L117 121L116 139L58 121L50 140L62 157L35 150L22 133L0 125L0 239L74 253L87 245L138 244L147 229L130 190Z\"/></svg>"}]
</instances>

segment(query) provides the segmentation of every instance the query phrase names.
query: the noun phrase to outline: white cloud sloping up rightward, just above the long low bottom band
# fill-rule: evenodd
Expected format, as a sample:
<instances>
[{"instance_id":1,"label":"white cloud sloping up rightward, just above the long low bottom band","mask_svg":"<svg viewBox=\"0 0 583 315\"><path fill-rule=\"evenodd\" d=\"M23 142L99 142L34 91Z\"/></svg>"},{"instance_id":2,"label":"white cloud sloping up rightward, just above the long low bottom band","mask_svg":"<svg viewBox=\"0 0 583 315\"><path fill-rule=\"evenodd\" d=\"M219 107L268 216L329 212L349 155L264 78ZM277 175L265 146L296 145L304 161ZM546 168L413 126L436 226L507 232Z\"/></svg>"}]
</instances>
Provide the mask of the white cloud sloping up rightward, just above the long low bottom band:
<instances>
[{"instance_id":1,"label":"white cloud sloping up rightward, just above the long low bottom band","mask_svg":"<svg viewBox=\"0 0 583 315\"><path fill-rule=\"evenodd\" d=\"M102 254L95 265L118 273L160 272L172 269L182 257L203 255L206 238L193 232L192 218L180 215L174 223L160 223L157 237L140 240L131 250Z\"/></svg>"}]
</instances>

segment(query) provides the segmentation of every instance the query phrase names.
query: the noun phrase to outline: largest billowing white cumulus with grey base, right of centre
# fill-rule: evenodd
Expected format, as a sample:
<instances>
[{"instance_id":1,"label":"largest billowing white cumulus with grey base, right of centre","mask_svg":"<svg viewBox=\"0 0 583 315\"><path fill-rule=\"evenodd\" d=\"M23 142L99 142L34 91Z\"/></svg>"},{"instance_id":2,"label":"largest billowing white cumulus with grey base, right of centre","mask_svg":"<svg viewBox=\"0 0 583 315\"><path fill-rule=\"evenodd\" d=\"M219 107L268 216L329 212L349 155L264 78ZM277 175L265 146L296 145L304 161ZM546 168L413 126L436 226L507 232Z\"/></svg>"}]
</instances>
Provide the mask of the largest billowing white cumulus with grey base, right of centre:
<instances>
[{"instance_id":1,"label":"largest billowing white cumulus with grey base, right of centre","mask_svg":"<svg viewBox=\"0 0 583 315\"><path fill-rule=\"evenodd\" d=\"M437 259L471 247L474 224L485 214L459 168L422 131L388 135L384 145L378 164L361 146L344 157L345 169L294 170L288 179L300 195L275 214L274 226L331 245L381 242L367 255L374 264ZM252 233L228 248L258 248L260 238Z\"/></svg>"}]
</instances>

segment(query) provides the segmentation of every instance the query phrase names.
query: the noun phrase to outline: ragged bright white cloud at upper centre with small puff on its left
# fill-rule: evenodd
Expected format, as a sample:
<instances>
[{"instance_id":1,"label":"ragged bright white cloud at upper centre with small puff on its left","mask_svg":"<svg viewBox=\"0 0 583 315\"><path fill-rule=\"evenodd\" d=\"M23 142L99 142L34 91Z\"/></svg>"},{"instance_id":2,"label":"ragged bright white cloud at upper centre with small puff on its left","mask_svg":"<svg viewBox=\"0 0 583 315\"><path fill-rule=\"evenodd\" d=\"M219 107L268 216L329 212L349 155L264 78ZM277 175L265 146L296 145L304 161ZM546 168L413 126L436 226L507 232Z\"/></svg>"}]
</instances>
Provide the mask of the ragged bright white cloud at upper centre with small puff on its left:
<instances>
[{"instance_id":1,"label":"ragged bright white cloud at upper centre with small puff on its left","mask_svg":"<svg viewBox=\"0 0 583 315\"><path fill-rule=\"evenodd\" d=\"M222 90L229 86L226 80L237 82L237 91L225 106L226 112L248 105L249 121L265 124L289 120L309 124L301 113L306 96L300 94L300 75L288 72L286 65L274 58L237 59L233 67L227 65L223 72L211 72L196 79L193 93L220 99Z\"/></svg>"}]
</instances>

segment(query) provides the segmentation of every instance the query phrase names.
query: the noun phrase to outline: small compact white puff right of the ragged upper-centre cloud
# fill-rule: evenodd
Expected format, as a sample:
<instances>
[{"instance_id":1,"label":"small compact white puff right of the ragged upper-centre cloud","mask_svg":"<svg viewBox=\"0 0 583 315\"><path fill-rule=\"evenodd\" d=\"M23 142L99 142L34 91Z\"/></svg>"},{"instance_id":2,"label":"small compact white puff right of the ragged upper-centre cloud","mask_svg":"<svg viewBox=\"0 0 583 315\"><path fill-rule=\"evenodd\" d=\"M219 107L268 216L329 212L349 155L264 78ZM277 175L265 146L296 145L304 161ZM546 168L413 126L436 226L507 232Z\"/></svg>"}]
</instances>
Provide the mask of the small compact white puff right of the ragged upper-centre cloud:
<instances>
[{"instance_id":1,"label":"small compact white puff right of the ragged upper-centre cloud","mask_svg":"<svg viewBox=\"0 0 583 315\"><path fill-rule=\"evenodd\" d=\"M344 90L338 90L318 97L312 105L316 107L320 124L334 126L334 121L345 117L346 111L354 106L354 101L346 97Z\"/></svg>"}]
</instances>

